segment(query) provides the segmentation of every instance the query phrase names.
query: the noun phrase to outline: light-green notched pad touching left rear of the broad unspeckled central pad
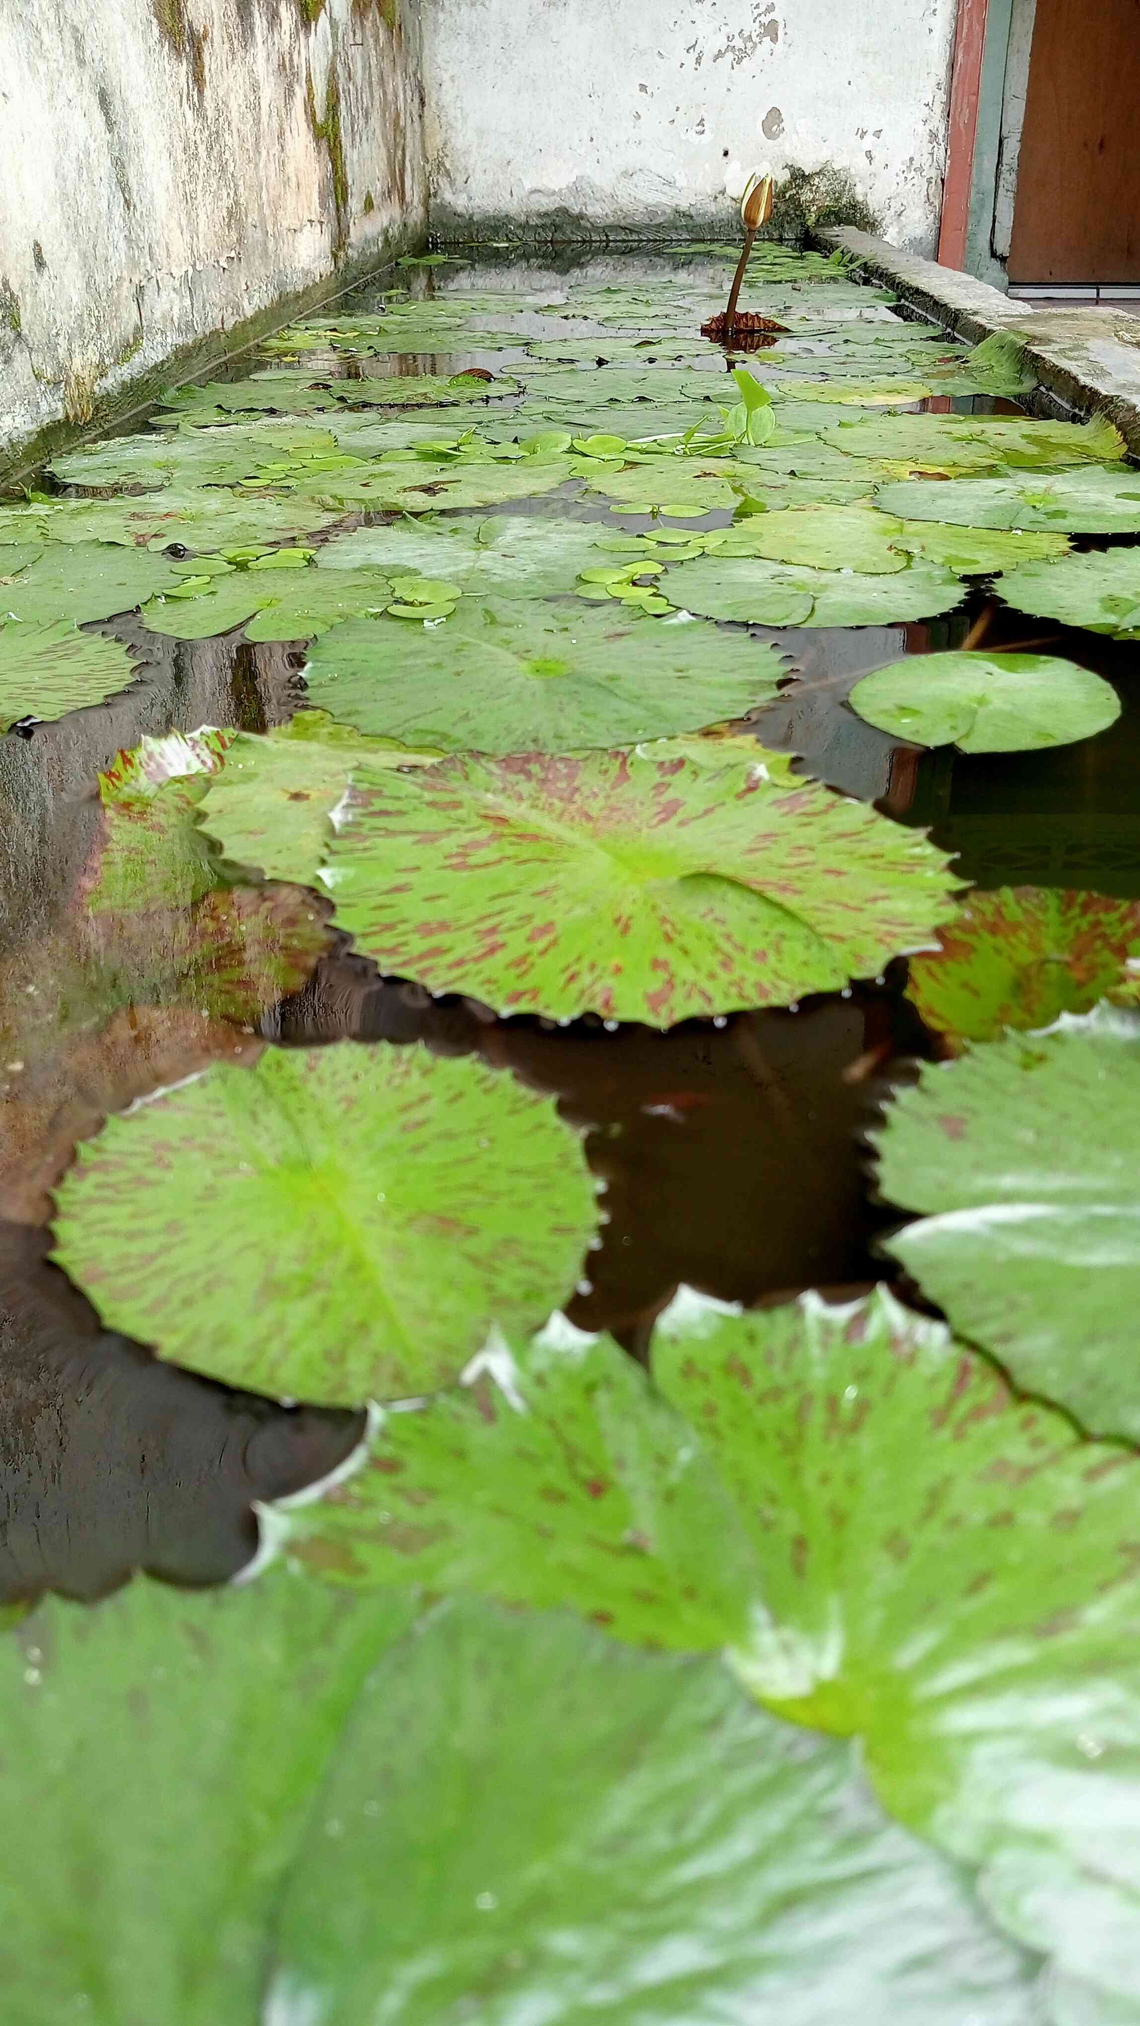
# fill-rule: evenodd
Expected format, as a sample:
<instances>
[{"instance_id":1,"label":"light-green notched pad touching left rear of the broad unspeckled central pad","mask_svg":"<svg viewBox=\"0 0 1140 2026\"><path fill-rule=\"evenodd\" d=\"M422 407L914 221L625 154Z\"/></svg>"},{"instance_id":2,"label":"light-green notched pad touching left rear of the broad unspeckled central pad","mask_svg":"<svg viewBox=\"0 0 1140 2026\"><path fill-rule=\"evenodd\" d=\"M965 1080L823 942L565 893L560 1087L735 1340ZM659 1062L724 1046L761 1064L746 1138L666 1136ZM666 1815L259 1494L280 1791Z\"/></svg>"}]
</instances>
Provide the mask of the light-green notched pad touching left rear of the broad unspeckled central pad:
<instances>
[{"instance_id":1,"label":"light-green notched pad touching left rear of the broad unspeckled central pad","mask_svg":"<svg viewBox=\"0 0 1140 2026\"><path fill-rule=\"evenodd\" d=\"M383 612L393 583L379 569L318 571L249 567L211 577L194 598L158 598L142 608L150 632L174 640L207 640L245 624L247 640L312 640L358 618Z\"/></svg>"}]
</instances>

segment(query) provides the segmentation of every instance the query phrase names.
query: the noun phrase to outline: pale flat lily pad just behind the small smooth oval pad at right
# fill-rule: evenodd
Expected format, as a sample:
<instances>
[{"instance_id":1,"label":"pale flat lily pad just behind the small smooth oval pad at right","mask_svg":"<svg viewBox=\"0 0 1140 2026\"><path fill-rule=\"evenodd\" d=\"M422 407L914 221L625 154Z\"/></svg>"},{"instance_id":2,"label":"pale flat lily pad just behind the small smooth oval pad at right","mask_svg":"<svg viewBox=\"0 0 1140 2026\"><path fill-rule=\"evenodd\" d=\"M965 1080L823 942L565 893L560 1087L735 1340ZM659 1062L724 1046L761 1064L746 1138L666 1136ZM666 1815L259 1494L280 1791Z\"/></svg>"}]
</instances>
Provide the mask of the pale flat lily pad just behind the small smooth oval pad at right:
<instances>
[{"instance_id":1,"label":"pale flat lily pad just behind the small smooth oval pad at right","mask_svg":"<svg viewBox=\"0 0 1140 2026\"><path fill-rule=\"evenodd\" d=\"M678 563L660 588L686 612L763 626L889 626L954 612L964 598L960 579L940 563L915 561L897 575L861 575L759 557L721 559L719 553Z\"/></svg>"}]
</instances>

